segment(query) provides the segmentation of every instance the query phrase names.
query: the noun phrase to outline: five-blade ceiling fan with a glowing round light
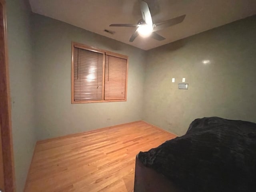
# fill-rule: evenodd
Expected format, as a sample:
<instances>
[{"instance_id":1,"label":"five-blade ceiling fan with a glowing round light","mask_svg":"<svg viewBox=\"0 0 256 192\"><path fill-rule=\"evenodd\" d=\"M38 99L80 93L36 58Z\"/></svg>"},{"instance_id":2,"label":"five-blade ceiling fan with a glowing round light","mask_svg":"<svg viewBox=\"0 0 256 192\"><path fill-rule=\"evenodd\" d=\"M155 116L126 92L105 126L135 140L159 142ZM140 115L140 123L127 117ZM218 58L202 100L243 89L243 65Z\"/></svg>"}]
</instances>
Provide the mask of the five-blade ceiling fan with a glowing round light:
<instances>
[{"instance_id":1,"label":"five-blade ceiling fan with a glowing round light","mask_svg":"<svg viewBox=\"0 0 256 192\"><path fill-rule=\"evenodd\" d=\"M140 10L142 14L142 19L138 21L138 24L111 24L110 25L110 27L136 27L137 29L132 34L129 40L130 42L133 42L134 39L139 34L142 37L150 36L151 38L158 41L165 40L165 38L157 34L156 31L181 23L186 17L186 15L182 15L173 19L163 21L163 22L153 23L148 4L144 0L139 0L139 1L140 1Z\"/></svg>"}]
</instances>

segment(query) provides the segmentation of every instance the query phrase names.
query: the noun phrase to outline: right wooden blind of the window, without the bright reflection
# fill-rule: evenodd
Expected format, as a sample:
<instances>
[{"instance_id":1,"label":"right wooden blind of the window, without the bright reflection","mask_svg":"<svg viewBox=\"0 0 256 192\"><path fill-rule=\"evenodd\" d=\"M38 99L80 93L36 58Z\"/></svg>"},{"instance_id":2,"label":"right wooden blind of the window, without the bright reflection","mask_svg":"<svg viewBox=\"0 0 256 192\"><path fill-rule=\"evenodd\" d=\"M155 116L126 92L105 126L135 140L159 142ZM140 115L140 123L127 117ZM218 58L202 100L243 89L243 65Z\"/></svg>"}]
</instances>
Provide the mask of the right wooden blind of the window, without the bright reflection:
<instances>
[{"instance_id":1,"label":"right wooden blind of the window, without the bright reflection","mask_svg":"<svg viewBox=\"0 0 256 192\"><path fill-rule=\"evenodd\" d=\"M125 99L126 59L106 55L104 99Z\"/></svg>"}]
</instances>

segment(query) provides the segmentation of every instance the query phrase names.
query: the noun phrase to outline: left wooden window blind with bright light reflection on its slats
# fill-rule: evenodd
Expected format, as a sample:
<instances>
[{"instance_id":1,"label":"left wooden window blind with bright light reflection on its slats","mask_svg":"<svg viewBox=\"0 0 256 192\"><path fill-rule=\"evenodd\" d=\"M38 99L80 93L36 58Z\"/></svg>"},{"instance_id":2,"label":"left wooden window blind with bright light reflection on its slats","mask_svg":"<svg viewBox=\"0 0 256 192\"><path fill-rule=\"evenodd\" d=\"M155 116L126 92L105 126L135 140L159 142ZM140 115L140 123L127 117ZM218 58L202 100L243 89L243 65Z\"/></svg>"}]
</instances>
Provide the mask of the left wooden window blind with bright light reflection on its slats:
<instances>
[{"instance_id":1,"label":"left wooden window blind with bright light reflection on its slats","mask_svg":"<svg viewBox=\"0 0 256 192\"><path fill-rule=\"evenodd\" d=\"M103 54L74 48L74 101L102 100Z\"/></svg>"}]
</instances>

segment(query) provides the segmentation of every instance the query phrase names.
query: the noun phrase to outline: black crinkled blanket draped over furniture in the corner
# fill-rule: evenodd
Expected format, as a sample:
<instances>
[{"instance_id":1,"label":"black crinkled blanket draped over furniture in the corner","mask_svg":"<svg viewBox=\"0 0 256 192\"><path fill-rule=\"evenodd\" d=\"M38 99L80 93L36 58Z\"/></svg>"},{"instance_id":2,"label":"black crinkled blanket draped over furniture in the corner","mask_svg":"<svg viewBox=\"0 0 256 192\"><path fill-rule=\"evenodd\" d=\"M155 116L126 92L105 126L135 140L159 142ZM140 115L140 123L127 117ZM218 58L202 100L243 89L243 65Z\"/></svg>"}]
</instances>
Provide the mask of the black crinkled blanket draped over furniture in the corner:
<instances>
[{"instance_id":1,"label":"black crinkled blanket draped over furniture in the corner","mask_svg":"<svg viewBox=\"0 0 256 192\"><path fill-rule=\"evenodd\" d=\"M256 192L256 123L196 119L184 136L138 158L184 192Z\"/></svg>"}]
</instances>

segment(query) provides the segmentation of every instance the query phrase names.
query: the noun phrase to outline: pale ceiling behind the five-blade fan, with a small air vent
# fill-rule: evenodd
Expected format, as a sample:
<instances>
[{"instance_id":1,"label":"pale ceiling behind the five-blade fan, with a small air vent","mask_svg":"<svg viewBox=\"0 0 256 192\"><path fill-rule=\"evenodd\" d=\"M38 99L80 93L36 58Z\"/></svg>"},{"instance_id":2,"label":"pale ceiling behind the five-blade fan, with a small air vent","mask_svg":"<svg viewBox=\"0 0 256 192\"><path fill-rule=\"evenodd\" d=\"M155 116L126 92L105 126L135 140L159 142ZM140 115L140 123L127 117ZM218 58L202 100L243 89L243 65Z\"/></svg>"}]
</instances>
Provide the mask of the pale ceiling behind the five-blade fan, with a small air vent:
<instances>
[{"instance_id":1,"label":"pale ceiling behind the five-blade fan, with a small air vent","mask_svg":"<svg viewBox=\"0 0 256 192\"><path fill-rule=\"evenodd\" d=\"M32 12L84 28L88 31L144 50L156 48L200 32L256 14L256 0L145 0L153 22L186 14L180 24L157 33L166 40L138 36L135 28L109 27L112 23L137 24L141 19L138 0L30 0ZM114 31L114 34L104 30Z\"/></svg>"}]
</instances>

